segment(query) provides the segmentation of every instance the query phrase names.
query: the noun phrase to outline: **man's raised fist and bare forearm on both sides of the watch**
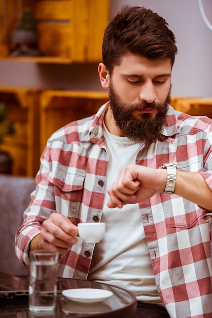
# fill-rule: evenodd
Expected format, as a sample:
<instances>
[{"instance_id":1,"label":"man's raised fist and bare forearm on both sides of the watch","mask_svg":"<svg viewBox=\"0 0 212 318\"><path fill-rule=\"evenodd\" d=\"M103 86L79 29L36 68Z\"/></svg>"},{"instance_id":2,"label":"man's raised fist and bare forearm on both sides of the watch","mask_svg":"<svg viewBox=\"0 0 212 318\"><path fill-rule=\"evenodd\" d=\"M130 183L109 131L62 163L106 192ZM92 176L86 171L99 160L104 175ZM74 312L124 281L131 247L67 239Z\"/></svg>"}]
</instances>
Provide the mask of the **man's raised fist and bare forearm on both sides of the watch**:
<instances>
[{"instance_id":1,"label":"man's raised fist and bare forearm on both sides of the watch","mask_svg":"<svg viewBox=\"0 0 212 318\"><path fill-rule=\"evenodd\" d=\"M127 165L109 188L107 205L122 208L125 204L148 200L156 193L164 192L166 180L166 169ZM212 211L212 190L201 173L177 170L174 194Z\"/></svg>"}]
</instances>

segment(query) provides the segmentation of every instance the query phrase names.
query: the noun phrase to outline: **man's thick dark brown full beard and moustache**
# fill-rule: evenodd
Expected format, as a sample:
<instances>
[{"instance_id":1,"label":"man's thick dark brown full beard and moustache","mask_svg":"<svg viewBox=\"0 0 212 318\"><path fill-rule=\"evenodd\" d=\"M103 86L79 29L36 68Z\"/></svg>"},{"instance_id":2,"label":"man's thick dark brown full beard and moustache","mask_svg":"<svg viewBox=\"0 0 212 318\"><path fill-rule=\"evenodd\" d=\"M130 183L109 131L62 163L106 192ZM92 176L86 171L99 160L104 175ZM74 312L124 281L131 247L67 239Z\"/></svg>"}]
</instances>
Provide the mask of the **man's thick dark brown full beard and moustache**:
<instances>
[{"instance_id":1,"label":"man's thick dark brown full beard and moustache","mask_svg":"<svg viewBox=\"0 0 212 318\"><path fill-rule=\"evenodd\" d=\"M163 103L148 103L142 101L139 104L128 105L123 103L116 94L113 85L109 87L110 108L113 112L115 124L121 130L123 136L137 143L151 144L156 141L166 125L166 114L170 103L170 90ZM132 113L138 109L155 108L158 113L152 117L150 113L135 118Z\"/></svg>"}]
</instances>

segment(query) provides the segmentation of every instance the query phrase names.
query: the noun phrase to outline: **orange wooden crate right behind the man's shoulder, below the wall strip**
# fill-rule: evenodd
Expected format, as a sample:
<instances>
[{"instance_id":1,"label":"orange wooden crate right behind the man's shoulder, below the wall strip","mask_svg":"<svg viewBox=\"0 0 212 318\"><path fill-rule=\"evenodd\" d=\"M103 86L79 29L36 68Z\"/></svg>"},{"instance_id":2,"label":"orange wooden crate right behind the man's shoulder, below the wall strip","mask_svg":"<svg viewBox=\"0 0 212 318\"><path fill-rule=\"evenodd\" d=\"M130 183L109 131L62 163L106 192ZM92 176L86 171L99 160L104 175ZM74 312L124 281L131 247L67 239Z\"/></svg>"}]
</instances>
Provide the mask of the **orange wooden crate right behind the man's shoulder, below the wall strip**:
<instances>
[{"instance_id":1,"label":"orange wooden crate right behind the man's shoulder, below the wall strip","mask_svg":"<svg viewBox=\"0 0 212 318\"><path fill-rule=\"evenodd\" d=\"M109 100L104 91L46 90L41 93L41 152L48 138L65 124L91 116Z\"/></svg>"}]
</instances>

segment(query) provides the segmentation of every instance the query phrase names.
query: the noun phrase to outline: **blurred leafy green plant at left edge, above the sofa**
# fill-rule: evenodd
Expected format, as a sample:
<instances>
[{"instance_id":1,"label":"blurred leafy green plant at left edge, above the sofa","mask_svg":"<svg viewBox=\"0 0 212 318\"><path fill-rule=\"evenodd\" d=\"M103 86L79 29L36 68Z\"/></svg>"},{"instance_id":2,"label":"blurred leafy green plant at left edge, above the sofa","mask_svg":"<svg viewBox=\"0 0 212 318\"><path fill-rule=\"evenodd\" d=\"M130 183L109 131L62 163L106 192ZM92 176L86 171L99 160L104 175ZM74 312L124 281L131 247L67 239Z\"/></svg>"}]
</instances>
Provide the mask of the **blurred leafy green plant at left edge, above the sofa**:
<instances>
[{"instance_id":1,"label":"blurred leafy green plant at left edge, above the sofa","mask_svg":"<svg viewBox=\"0 0 212 318\"><path fill-rule=\"evenodd\" d=\"M5 136L15 133L14 122L8 119L9 112L4 102L0 102L0 144Z\"/></svg>"}]
</instances>

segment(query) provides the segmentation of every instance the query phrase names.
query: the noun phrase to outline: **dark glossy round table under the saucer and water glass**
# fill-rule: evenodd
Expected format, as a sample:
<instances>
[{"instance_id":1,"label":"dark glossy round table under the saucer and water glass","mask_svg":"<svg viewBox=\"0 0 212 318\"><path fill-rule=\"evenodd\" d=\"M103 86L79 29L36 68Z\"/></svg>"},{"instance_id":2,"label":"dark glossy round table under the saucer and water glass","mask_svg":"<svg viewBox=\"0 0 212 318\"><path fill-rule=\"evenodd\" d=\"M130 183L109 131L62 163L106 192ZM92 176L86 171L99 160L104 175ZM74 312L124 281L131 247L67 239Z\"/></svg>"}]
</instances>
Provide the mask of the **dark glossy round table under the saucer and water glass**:
<instances>
[{"instance_id":1,"label":"dark glossy round table under the saucer and water glass","mask_svg":"<svg viewBox=\"0 0 212 318\"><path fill-rule=\"evenodd\" d=\"M100 302L82 303L68 300L62 295L68 289L103 289L111 291L113 295ZM28 298L1 300L0 316L14 318L132 318L137 307L137 300L131 292L95 281L58 278L57 304L54 312L30 312Z\"/></svg>"}]
</instances>

